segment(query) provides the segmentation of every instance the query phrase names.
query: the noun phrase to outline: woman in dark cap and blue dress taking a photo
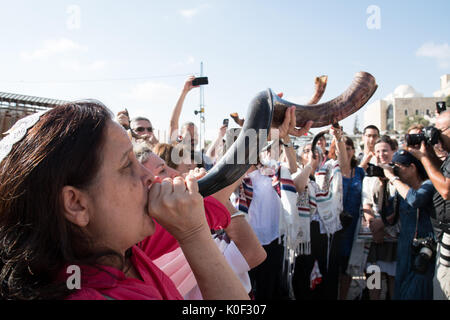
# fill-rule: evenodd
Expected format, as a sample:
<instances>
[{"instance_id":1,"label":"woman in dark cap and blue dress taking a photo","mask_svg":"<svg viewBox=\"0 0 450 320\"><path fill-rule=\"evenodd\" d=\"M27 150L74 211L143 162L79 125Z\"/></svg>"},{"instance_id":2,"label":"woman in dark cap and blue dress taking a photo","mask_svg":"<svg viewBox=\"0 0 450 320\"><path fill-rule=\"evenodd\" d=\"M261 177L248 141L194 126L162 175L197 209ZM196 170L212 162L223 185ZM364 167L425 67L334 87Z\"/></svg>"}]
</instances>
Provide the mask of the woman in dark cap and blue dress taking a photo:
<instances>
[{"instance_id":1,"label":"woman in dark cap and blue dress taking a photo","mask_svg":"<svg viewBox=\"0 0 450 320\"><path fill-rule=\"evenodd\" d=\"M396 189L386 211L398 215L401 224L394 299L431 300L436 243L430 216L435 190L423 165L408 151L396 152L392 162L395 167L381 166Z\"/></svg>"}]
</instances>

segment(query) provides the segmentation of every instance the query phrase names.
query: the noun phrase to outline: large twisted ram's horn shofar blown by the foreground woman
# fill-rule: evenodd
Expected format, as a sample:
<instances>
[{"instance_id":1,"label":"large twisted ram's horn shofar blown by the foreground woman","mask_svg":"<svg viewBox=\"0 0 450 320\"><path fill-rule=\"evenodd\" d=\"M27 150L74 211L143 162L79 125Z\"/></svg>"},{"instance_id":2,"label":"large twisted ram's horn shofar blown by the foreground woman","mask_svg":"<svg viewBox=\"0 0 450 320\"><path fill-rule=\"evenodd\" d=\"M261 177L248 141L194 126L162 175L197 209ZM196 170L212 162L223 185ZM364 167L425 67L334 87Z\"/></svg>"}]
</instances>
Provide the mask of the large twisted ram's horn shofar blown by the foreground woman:
<instances>
[{"instance_id":1,"label":"large twisted ram's horn shofar blown by the foreground woman","mask_svg":"<svg viewBox=\"0 0 450 320\"><path fill-rule=\"evenodd\" d=\"M296 105L281 99L271 89L260 92L250 103L244 127L236 142L208 174L198 181L200 194L206 197L238 180L254 164L250 163L250 159L255 159L267 143L267 141L260 141L261 135L258 133L261 129L279 127L283 123L286 108L290 106L297 108L295 114L298 127L304 126L309 120L314 121L313 127L323 127L339 122L358 111L372 97L376 89L377 84L371 74L358 72L343 94L319 105ZM257 143L247 138L252 136L251 131L256 131ZM238 157L238 151L244 152L239 155L244 156L244 161L237 161L241 159Z\"/></svg>"}]
</instances>

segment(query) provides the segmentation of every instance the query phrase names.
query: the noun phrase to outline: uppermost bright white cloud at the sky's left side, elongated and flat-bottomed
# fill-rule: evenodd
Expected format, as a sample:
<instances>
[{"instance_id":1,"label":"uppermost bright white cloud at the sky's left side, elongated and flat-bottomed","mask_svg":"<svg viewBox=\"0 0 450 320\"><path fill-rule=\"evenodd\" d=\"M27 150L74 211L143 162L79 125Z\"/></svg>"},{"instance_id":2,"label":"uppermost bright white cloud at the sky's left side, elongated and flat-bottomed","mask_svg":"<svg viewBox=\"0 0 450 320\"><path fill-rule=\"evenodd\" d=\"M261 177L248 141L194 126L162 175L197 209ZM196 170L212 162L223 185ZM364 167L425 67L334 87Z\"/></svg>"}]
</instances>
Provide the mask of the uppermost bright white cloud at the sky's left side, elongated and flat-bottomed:
<instances>
[{"instance_id":1,"label":"uppermost bright white cloud at the sky's left side, elongated and flat-bottomed","mask_svg":"<svg viewBox=\"0 0 450 320\"><path fill-rule=\"evenodd\" d=\"M60 54L85 51L87 51L87 47L82 46L70 39L60 38L58 40L47 40L41 48L34 51L23 51L20 53L20 57L25 61L34 61L50 58Z\"/></svg>"}]
</instances>

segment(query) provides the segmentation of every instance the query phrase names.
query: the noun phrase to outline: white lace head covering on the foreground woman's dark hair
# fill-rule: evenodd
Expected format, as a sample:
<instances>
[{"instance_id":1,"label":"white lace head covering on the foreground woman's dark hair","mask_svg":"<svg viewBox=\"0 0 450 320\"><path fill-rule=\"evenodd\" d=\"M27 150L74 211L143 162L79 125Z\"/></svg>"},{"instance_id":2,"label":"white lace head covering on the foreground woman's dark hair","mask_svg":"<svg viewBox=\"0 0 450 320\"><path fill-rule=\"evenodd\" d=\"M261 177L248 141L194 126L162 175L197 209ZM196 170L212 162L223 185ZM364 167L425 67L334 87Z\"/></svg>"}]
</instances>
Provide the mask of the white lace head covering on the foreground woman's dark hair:
<instances>
[{"instance_id":1,"label":"white lace head covering on the foreground woman's dark hair","mask_svg":"<svg viewBox=\"0 0 450 320\"><path fill-rule=\"evenodd\" d=\"M17 121L11 129L5 132L7 136L0 141L0 163L11 152L14 144L21 141L27 134L28 129L33 127L39 121L41 116L49 110L51 109L39 111L22 118Z\"/></svg>"}]
</instances>

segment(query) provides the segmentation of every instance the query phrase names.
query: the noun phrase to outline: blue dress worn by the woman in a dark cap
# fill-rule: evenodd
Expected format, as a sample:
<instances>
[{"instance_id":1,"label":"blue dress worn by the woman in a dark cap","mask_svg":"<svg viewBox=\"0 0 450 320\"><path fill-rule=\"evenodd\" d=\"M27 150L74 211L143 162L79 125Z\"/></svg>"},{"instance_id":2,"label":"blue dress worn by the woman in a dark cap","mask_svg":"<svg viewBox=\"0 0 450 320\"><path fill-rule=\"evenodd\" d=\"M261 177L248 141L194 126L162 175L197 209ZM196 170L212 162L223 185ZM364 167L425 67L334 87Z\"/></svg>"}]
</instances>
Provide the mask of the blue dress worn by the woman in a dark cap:
<instances>
[{"instance_id":1,"label":"blue dress worn by the woman in a dark cap","mask_svg":"<svg viewBox=\"0 0 450 320\"><path fill-rule=\"evenodd\" d=\"M419 189L410 189L406 200L400 197L400 235L397 247L397 269L395 274L395 300L431 300L433 299L433 276L436 260L428 263L425 274L413 270L414 256L411 243L416 232L417 208L419 208L418 238L434 236L430 214L433 212L433 194L435 190L430 180ZM389 201L392 210L393 198Z\"/></svg>"}]
</instances>

